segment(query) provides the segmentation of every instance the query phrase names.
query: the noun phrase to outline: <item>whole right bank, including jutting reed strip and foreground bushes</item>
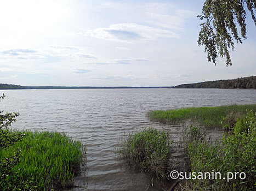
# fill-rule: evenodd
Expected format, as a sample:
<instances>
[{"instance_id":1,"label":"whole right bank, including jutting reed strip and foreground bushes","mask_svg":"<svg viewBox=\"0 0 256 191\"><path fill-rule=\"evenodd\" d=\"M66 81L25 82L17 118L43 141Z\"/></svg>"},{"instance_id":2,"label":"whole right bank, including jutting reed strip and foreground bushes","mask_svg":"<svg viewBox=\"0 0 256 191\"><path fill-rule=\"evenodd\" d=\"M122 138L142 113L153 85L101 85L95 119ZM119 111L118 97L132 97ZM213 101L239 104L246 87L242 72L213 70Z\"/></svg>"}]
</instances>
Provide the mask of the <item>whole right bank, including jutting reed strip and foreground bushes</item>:
<instances>
[{"instance_id":1,"label":"whole right bank, including jutting reed strip and foreground bushes","mask_svg":"<svg viewBox=\"0 0 256 191\"><path fill-rule=\"evenodd\" d=\"M183 181L175 190L255 189L255 112L255 104L150 111L147 116L152 121L174 124L189 120L200 125L184 129L190 180ZM226 129L223 138L216 142L205 138L207 127L213 126ZM215 177L199 176L212 172Z\"/></svg>"}]
</instances>

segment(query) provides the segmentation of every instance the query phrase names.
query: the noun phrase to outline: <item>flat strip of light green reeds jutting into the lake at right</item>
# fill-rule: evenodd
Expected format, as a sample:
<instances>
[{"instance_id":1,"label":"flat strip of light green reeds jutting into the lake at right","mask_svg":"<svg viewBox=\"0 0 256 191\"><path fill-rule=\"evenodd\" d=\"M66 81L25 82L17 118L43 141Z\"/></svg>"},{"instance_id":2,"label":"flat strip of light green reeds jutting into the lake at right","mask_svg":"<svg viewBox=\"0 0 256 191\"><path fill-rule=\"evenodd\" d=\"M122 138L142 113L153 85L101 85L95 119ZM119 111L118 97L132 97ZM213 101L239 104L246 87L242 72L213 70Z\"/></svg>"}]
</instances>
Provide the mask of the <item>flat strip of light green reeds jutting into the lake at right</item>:
<instances>
[{"instance_id":1,"label":"flat strip of light green reeds jutting into the lake at right","mask_svg":"<svg viewBox=\"0 0 256 191\"><path fill-rule=\"evenodd\" d=\"M238 116L246 114L246 110L256 111L256 104L184 108L166 111L157 110L148 112L147 116L152 121L163 123L180 123L186 120L192 120L192 122L200 123L206 127L223 127L221 121L227 123L227 126L230 123L234 124L234 120Z\"/></svg>"}]
</instances>

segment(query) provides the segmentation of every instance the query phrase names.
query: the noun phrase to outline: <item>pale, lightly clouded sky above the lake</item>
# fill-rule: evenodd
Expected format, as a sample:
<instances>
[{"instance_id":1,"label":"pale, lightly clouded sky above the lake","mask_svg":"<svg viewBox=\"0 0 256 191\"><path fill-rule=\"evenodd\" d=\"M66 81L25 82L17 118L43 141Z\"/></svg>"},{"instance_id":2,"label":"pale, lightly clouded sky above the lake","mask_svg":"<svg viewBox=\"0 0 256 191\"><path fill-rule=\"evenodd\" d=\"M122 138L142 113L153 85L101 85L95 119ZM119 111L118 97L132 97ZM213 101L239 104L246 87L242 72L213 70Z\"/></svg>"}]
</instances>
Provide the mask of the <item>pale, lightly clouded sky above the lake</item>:
<instances>
[{"instance_id":1,"label":"pale, lightly clouded sky above the lake","mask_svg":"<svg viewBox=\"0 0 256 191\"><path fill-rule=\"evenodd\" d=\"M197 45L201 0L0 2L0 83L22 86L175 86L255 75L247 39L208 62Z\"/></svg>"}]
</instances>

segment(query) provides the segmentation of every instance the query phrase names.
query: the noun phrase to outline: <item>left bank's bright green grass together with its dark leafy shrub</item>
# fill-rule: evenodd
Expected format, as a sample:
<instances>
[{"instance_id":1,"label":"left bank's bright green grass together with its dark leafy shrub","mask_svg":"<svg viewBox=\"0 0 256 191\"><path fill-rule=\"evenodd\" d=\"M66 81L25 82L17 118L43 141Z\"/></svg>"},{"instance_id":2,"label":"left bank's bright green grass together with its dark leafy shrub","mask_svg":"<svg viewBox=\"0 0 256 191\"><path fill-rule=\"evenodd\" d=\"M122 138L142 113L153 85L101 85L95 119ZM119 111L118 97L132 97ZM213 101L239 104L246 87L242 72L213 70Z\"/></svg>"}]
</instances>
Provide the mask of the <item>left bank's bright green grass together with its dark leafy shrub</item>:
<instances>
[{"instance_id":1,"label":"left bank's bright green grass together with its dark leafy shrub","mask_svg":"<svg viewBox=\"0 0 256 191\"><path fill-rule=\"evenodd\" d=\"M9 127L17 116L17 112L0 110L0 190L72 187L86 146L66 134L12 131Z\"/></svg>"}]
</instances>

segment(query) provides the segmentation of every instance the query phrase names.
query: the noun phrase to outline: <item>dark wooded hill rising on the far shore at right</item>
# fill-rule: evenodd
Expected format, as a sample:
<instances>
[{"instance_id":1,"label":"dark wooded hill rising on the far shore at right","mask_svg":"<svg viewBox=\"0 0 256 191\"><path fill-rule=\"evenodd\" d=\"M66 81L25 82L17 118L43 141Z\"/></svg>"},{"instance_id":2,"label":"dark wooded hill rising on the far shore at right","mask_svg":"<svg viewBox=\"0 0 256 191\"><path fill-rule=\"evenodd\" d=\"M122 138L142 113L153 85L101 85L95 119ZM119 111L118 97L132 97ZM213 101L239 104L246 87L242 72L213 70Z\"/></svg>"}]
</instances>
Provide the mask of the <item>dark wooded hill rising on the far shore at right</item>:
<instances>
[{"instance_id":1,"label":"dark wooded hill rising on the far shore at right","mask_svg":"<svg viewBox=\"0 0 256 191\"><path fill-rule=\"evenodd\" d=\"M223 89L256 89L256 76L241 77L234 80L217 80L200 83L187 83L174 88L223 88Z\"/></svg>"}]
</instances>

